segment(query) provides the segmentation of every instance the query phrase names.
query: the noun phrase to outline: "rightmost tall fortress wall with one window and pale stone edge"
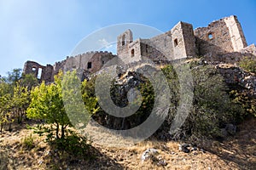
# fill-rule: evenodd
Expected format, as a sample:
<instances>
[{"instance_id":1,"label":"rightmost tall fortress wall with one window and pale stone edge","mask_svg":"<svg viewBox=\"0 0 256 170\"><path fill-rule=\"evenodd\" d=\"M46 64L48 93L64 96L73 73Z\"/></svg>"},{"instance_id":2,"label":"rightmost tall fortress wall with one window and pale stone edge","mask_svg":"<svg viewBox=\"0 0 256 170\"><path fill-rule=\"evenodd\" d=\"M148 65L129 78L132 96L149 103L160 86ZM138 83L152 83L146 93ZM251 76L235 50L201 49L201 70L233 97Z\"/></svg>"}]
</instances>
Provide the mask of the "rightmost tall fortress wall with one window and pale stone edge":
<instances>
[{"instance_id":1,"label":"rightmost tall fortress wall with one window and pale stone edge","mask_svg":"<svg viewBox=\"0 0 256 170\"><path fill-rule=\"evenodd\" d=\"M194 33L199 55L215 57L247 47L241 25L234 15L213 21L207 27L197 28Z\"/></svg>"}]
</instances>

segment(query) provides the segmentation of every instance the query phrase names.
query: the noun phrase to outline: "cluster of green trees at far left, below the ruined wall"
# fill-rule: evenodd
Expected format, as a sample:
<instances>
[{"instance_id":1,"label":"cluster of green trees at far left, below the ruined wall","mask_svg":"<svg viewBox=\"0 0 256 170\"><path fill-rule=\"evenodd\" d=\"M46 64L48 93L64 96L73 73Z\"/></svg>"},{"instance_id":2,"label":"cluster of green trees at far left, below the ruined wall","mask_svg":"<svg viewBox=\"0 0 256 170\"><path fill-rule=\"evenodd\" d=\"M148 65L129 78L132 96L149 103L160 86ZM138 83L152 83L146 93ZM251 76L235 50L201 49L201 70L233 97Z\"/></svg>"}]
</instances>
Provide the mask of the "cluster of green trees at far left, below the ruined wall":
<instances>
[{"instance_id":1,"label":"cluster of green trees at far left, below the ruined wall","mask_svg":"<svg viewBox=\"0 0 256 170\"><path fill-rule=\"evenodd\" d=\"M0 77L0 127L12 122L21 123L26 116L26 108L30 99L30 90L38 84L38 79L33 75L21 77L21 69L8 72L8 77Z\"/></svg>"}]
</instances>

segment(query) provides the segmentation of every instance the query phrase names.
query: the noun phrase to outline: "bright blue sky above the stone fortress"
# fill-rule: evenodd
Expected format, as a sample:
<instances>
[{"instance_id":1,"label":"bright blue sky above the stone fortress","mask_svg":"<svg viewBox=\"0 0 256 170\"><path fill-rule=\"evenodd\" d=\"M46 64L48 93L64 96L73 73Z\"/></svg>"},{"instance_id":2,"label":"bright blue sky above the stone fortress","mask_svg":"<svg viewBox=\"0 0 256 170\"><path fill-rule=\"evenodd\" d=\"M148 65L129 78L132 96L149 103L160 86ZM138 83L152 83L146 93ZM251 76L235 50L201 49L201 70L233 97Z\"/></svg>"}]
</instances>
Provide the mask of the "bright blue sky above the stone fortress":
<instances>
[{"instance_id":1,"label":"bright blue sky above the stone fortress","mask_svg":"<svg viewBox=\"0 0 256 170\"><path fill-rule=\"evenodd\" d=\"M65 59L91 32L138 23L168 31L182 20L194 28L235 14L256 43L256 1L0 0L0 75L23 68L26 60L54 64Z\"/></svg>"}]
</instances>

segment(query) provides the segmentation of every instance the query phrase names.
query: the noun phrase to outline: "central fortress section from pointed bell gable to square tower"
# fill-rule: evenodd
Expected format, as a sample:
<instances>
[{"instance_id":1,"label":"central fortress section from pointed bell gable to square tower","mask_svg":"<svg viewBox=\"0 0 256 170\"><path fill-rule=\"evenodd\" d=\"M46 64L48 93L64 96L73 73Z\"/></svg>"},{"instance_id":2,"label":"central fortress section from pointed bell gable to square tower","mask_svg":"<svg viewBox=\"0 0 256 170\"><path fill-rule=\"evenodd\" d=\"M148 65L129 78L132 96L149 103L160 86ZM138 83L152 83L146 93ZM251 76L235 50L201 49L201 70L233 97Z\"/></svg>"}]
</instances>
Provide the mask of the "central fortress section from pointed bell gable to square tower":
<instances>
[{"instance_id":1,"label":"central fortress section from pointed bell gable to square tower","mask_svg":"<svg viewBox=\"0 0 256 170\"><path fill-rule=\"evenodd\" d=\"M125 38L130 39L125 39ZM125 63L135 62L143 57L153 61L182 59L195 56L195 36L193 26L179 22L171 31L149 39L133 41L131 30L118 37L118 56Z\"/></svg>"}]
</instances>

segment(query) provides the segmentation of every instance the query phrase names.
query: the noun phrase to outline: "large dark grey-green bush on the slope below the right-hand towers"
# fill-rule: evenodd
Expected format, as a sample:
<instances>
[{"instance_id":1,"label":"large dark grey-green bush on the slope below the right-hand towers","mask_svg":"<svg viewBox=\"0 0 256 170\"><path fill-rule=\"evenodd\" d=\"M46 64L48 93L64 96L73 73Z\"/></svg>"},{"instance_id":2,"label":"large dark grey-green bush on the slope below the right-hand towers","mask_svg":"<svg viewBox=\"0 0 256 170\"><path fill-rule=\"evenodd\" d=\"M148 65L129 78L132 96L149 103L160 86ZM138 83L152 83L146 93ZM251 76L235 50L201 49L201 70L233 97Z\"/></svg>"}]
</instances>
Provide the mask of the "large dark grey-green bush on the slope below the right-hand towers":
<instances>
[{"instance_id":1,"label":"large dark grey-green bush on the slope below the right-hand towers","mask_svg":"<svg viewBox=\"0 0 256 170\"><path fill-rule=\"evenodd\" d=\"M199 138L219 138L222 136L221 128L229 122L236 122L236 116L242 109L231 102L224 78L218 74L213 66L193 63L190 67L192 67L194 82L193 108L189 111L189 116L179 131L181 135L174 134L173 137L186 139L195 135ZM172 89L172 109L169 111L168 120L166 120L167 123L171 124L177 111L177 105L180 105L177 88L179 82L172 66L166 66L163 72Z\"/></svg>"}]
</instances>

